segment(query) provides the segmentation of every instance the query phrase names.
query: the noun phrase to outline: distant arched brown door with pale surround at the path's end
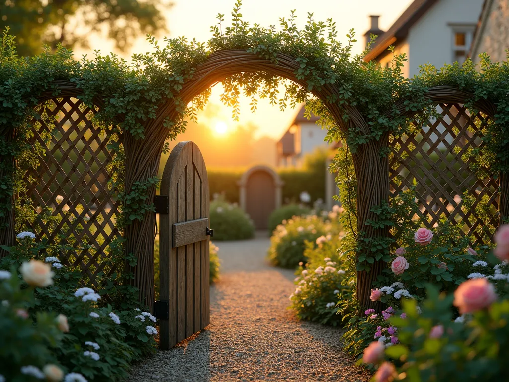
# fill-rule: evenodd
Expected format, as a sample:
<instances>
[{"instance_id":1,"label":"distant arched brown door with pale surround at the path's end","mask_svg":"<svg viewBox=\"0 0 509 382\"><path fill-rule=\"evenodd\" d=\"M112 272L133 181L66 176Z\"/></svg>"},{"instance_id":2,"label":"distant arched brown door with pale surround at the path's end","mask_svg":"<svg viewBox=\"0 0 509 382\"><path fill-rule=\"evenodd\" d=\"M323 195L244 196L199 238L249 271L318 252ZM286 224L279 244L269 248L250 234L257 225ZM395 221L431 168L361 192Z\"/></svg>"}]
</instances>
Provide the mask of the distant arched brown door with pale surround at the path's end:
<instances>
[{"instance_id":1,"label":"distant arched brown door with pale surround at the path's end","mask_svg":"<svg viewBox=\"0 0 509 382\"><path fill-rule=\"evenodd\" d=\"M271 212L281 206L279 175L268 166L254 166L242 174L238 184L241 208L257 229L267 229Z\"/></svg>"}]
</instances>

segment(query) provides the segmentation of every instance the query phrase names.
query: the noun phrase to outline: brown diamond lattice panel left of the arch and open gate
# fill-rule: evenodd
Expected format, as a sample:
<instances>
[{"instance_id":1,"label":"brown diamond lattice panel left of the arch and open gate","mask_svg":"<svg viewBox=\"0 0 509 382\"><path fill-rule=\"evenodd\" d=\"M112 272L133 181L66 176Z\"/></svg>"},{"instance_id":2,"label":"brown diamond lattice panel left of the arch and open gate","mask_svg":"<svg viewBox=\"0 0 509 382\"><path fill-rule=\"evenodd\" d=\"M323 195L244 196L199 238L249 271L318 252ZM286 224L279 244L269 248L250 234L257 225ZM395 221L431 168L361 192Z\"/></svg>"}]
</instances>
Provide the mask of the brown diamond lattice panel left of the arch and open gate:
<instances>
[{"instance_id":1,"label":"brown diamond lattice panel left of the arch and open gate","mask_svg":"<svg viewBox=\"0 0 509 382\"><path fill-rule=\"evenodd\" d=\"M58 98L41 107L32 124L31 144L44 153L37 170L27 172L26 196L44 213L31 225L39 238L65 244L61 260L78 266L84 279L96 283L99 272L114 270L106 261L119 202L108 181L114 156L106 131L91 123L93 111L75 98Z\"/></svg>"}]
</instances>

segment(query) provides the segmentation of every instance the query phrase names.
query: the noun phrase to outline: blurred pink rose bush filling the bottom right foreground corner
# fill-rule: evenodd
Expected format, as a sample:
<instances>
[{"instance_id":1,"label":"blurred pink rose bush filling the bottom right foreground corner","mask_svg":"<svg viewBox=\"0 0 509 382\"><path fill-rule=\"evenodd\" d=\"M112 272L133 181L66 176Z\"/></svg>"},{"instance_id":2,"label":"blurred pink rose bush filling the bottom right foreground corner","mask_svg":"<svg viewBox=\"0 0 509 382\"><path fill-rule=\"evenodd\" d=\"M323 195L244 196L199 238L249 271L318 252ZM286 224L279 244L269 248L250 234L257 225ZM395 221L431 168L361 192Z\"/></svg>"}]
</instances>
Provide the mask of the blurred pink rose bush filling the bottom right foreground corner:
<instances>
[{"instance_id":1,"label":"blurred pink rose bush filling the bottom right foreground corner","mask_svg":"<svg viewBox=\"0 0 509 382\"><path fill-rule=\"evenodd\" d=\"M480 285L469 285L472 283ZM422 303L420 315L415 310L415 300L404 301L405 318L390 318L398 326L400 343L385 347L384 354L377 347L378 357L373 350L365 352L366 362L376 364L383 358L395 361L396 367L385 363L391 366L389 375L399 375L397 379L401 380L506 380L509 300L493 301L493 285L487 279L468 280L460 288L467 293L445 295L436 286L428 285L428 297ZM470 304L470 314L454 320L453 305L461 309L465 300ZM381 372L378 377L377 374L375 380L388 380L381 378Z\"/></svg>"}]
</instances>

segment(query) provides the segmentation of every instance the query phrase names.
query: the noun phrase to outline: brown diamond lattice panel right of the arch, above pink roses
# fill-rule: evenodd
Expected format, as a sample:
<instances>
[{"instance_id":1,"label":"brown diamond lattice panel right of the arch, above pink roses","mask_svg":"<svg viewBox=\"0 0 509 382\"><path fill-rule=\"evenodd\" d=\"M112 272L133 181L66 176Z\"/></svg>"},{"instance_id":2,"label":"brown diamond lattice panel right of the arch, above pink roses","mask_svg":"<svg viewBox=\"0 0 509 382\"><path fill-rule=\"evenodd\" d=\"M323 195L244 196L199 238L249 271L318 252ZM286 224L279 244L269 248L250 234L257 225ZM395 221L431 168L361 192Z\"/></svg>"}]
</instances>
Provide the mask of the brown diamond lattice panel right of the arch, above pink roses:
<instances>
[{"instance_id":1,"label":"brown diamond lattice panel right of the arch, above pink roses","mask_svg":"<svg viewBox=\"0 0 509 382\"><path fill-rule=\"evenodd\" d=\"M419 210L413 219L432 228L445 217L461 225L472 243L486 242L492 235L488 226L498 225L498 184L493 178L478 179L472 170L474 159L465 159L464 154L484 145L487 119L456 103L438 104L437 112L440 116L422 129L392 138L390 194L395 196L415 181ZM465 198L473 201L471 208ZM488 219L481 208L489 212Z\"/></svg>"}]
</instances>

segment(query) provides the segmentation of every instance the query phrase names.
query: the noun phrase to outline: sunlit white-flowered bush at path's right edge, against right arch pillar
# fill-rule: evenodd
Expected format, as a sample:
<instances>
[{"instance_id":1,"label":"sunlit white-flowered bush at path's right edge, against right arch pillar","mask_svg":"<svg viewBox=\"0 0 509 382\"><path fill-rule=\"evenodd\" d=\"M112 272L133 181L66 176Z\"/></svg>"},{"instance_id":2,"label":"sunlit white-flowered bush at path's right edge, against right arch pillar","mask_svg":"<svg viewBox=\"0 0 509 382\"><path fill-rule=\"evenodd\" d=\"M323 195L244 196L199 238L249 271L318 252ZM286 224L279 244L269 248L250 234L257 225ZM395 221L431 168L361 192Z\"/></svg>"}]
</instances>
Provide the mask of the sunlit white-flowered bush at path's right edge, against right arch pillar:
<instances>
[{"instance_id":1,"label":"sunlit white-flowered bush at path's right edge, against right arch pillar","mask_svg":"<svg viewBox=\"0 0 509 382\"><path fill-rule=\"evenodd\" d=\"M345 283L346 272L336 251L340 239L318 240L318 246L306 243L304 255L309 261L297 270L291 307L301 320L336 326L343 318L337 314L336 305L349 298L351 288Z\"/></svg>"}]
</instances>

